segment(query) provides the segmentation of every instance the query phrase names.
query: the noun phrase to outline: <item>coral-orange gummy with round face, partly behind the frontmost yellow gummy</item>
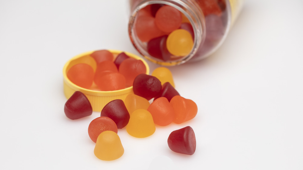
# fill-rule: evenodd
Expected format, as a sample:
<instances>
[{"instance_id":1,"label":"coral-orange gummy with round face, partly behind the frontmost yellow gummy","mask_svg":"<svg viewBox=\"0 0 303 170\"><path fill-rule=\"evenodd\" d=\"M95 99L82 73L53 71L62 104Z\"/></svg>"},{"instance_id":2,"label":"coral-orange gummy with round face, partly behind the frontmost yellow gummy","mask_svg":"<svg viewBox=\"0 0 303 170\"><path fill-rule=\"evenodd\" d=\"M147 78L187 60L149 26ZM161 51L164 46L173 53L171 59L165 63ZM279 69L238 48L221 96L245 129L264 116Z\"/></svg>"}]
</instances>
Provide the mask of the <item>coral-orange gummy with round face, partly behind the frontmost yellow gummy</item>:
<instances>
[{"instance_id":1,"label":"coral-orange gummy with round face, partly behind the frontmost yellow gummy","mask_svg":"<svg viewBox=\"0 0 303 170\"><path fill-rule=\"evenodd\" d=\"M97 117L88 125L88 136L96 143L100 133L107 130L118 133L117 125L111 118L106 116Z\"/></svg>"}]
</instances>

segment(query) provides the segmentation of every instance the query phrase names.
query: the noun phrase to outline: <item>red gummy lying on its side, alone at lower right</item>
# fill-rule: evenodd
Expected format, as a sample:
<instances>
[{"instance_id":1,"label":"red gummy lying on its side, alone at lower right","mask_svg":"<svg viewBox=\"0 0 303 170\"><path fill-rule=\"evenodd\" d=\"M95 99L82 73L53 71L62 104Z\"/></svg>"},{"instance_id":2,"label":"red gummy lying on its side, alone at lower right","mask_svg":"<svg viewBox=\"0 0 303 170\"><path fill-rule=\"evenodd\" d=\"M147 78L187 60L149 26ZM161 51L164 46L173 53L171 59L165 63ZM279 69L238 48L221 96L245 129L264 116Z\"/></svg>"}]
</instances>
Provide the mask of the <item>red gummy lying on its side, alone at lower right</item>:
<instances>
[{"instance_id":1,"label":"red gummy lying on its side, alone at lower right","mask_svg":"<svg viewBox=\"0 0 303 170\"><path fill-rule=\"evenodd\" d=\"M196 150L195 132L190 126L175 130L168 136L167 143L174 152L192 155Z\"/></svg>"}]
</instances>

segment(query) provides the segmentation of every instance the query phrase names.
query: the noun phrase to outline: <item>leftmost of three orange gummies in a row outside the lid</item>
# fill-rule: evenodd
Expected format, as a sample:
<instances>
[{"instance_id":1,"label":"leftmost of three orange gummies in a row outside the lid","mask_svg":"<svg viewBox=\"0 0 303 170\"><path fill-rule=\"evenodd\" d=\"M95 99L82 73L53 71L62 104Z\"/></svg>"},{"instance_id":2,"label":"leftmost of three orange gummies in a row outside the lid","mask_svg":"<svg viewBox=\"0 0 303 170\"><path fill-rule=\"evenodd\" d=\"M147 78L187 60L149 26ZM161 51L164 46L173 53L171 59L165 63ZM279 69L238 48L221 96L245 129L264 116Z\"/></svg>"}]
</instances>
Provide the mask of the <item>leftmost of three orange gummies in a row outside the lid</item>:
<instances>
[{"instance_id":1,"label":"leftmost of three orange gummies in a row outside the lid","mask_svg":"<svg viewBox=\"0 0 303 170\"><path fill-rule=\"evenodd\" d=\"M147 111L151 113L154 123L157 125L167 126L174 120L174 108L165 97L154 100Z\"/></svg>"}]
</instances>

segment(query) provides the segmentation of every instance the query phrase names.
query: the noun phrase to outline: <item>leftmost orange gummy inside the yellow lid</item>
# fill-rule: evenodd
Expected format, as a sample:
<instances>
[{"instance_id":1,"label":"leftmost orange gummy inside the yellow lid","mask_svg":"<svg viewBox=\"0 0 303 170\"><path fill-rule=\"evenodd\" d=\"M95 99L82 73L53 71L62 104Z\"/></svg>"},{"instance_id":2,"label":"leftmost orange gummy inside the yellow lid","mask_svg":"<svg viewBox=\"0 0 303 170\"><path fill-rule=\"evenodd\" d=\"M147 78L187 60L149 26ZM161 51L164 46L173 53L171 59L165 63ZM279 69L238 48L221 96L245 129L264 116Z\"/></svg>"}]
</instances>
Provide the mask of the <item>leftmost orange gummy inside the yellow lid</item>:
<instances>
[{"instance_id":1,"label":"leftmost orange gummy inside the yellow lid","mask_svg":"<svg viewBox=\"0 0 303 170\"><path fill-rule=\"evenodd\" d=\"M90 65L79 63L72 66L66 75L75 85L89 89L92 86L95 74Z\"/></svg>"}]
</instances>

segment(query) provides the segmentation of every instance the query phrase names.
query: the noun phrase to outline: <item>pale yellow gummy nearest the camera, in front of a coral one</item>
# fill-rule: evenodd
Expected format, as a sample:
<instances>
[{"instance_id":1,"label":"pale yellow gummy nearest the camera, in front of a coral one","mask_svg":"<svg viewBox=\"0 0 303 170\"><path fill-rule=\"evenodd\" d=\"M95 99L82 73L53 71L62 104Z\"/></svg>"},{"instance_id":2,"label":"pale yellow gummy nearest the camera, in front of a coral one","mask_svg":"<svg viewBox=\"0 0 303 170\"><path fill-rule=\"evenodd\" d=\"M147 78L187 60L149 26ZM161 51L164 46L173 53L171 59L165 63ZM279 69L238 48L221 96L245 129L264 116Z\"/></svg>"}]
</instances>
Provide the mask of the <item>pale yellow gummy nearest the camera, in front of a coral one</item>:
<instances>
[{"instance_id":1,"label":"pale yellow gummy nearest the camera, in front of a coral one","mask_svg":"<svg viewBox=\"0 0 303 170\"><path fill-rule=\"evenodd\" d=\"M97 158L104 161L120 158L124 148L118 134L110 130L102 132L97 138L94 153Z\"/></svg>"}]
</instances>

